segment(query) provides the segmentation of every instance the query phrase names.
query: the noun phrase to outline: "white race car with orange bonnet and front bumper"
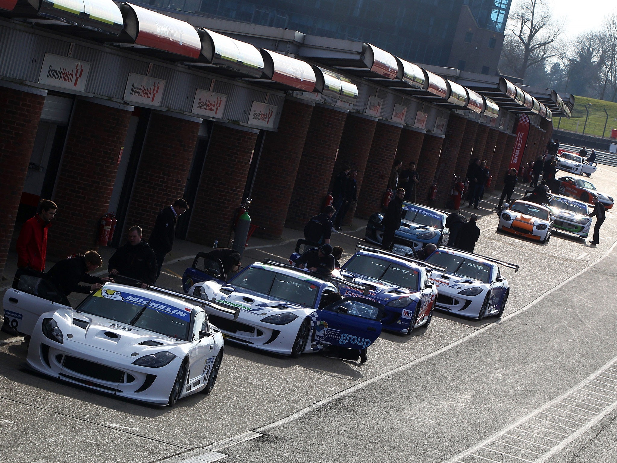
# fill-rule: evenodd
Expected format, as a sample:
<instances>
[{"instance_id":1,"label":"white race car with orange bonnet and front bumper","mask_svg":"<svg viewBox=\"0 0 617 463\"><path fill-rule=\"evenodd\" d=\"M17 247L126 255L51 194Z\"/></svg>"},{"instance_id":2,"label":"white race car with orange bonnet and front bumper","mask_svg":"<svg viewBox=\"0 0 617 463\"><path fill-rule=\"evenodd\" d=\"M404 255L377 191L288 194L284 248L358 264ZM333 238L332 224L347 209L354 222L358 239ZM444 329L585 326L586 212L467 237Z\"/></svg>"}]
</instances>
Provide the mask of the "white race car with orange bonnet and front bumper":
<instances>
[{"instance_id":1,"label":"white race car with orange bonnet and front bumper","mask_svg":"<svg viewBox=\"0 0 617 463\"><path fill-rule=\"evenodd\" d=\"M515 201L499 213L497 231L546 243L550 240L552 230L553 216L550 209L535 202Z\"/></svg>"}]
</instances>

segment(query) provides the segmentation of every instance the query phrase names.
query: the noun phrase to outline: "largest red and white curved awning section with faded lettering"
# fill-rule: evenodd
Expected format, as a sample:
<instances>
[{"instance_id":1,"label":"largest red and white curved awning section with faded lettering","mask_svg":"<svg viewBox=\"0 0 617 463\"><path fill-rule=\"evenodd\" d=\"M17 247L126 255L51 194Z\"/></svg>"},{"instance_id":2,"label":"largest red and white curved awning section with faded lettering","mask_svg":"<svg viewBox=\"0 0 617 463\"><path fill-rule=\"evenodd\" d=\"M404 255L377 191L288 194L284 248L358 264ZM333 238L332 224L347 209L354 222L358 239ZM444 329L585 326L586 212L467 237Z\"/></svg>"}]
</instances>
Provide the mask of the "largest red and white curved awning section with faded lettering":
<instances>
[{"instance_id":1,"label":"largest red and white curved awning section with faded lettering","mask_svg":"<svg viewBox=\"0 0 617 463\"><path fill-rule=\"evenodd\" d=\"M197 30L184 22L130 3L120 4L124 30L117 45L162 59L199 59L201 39Z\"/></svg>"}]
</instances>

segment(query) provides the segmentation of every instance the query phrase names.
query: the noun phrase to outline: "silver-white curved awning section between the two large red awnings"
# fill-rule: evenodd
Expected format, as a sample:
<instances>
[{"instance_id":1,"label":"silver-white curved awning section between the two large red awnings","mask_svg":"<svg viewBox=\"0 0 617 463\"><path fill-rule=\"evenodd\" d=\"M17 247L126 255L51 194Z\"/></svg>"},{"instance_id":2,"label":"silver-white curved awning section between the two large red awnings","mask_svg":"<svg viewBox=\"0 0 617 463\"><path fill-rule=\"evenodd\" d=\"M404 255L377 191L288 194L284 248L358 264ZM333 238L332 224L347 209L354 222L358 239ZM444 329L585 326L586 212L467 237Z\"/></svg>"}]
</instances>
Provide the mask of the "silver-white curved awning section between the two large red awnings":
<instances>
[{"instance_id":1,"label":"silver-white curved awning section between the two large red awnings","mask_svg":"<svg viewBox=\"0 0 617 463\"><path fill-rule=\"evenodd\" d=\"M207 68L226 77L259 78L263 73L263 57L255 46L208 29L200 28L201 58L206 62L187 63Z\"/></svg>"}]
</instances>

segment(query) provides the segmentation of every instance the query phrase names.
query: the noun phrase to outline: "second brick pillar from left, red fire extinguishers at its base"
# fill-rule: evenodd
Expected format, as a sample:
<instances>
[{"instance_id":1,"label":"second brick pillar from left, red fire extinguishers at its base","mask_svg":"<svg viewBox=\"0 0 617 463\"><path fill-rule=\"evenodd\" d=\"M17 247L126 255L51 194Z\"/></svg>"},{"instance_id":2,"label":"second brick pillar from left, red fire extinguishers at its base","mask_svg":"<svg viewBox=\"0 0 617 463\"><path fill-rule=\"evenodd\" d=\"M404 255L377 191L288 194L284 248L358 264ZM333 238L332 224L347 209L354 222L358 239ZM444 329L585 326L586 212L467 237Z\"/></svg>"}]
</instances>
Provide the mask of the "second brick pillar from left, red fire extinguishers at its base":
<instances>
[{"instance_id":1,"label":"second brick pillar from left, red fire extinguishers at its base","mask_svg":"<svg viewBox=\"0 0 617 463\"><path fill-rule=\"evenodd\" d=\"M49 256L64 259L98 249L99 220L109 212L132 111L132 106L77 100L54 193L58 214L49 233Z\"/></svg>"}]
</instances>

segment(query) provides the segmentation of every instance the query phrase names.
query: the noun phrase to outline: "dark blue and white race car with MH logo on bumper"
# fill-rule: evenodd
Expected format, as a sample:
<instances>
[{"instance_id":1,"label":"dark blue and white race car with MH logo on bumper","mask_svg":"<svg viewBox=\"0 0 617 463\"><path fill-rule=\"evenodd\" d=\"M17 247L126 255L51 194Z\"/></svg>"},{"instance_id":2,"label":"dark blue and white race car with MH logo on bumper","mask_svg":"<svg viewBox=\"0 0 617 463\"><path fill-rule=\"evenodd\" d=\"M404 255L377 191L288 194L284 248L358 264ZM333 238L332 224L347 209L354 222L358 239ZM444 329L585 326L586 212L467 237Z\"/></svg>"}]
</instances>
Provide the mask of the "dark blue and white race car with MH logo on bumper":
<instances>
[{"instance_id":1,"label":"dark blue and white race car with MH logo on bumper","mask_svg":"<svg viewBox=\"0 0 617 463\"><path fill-rule=\"evenodd\" d=\"M431 270L444 270L412 257L399 256L381 249L357 245L360 251L342 266L342 272L354 276L359 291L342 284L342 296L366 298L384 306L381 325L384 330L410 334L414 328L427 328L433 317L437 298ZM366 286L370 290L366 291Z\"/></svg>"}]
</instances>

